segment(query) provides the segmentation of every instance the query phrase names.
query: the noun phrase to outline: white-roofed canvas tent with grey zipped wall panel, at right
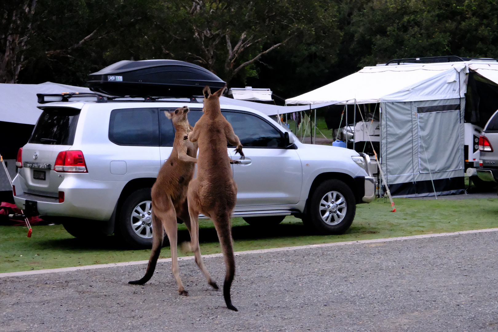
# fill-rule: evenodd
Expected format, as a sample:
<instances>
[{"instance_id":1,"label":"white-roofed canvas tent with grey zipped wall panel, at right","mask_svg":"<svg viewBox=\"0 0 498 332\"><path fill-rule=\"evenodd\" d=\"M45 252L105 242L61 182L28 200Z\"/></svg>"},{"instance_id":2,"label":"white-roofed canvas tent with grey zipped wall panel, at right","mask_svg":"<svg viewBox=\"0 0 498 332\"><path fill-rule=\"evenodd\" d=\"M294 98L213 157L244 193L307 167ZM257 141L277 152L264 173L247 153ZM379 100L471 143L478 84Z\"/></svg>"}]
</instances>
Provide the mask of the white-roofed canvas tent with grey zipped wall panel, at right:
<instances>
[{"instance_id":1,"label":"white-roofed canvas tent with grey zipped wall panel, at right","mask_svg":"<svg viewBox=\"0 0 498 332\"><path fill-rule=\"evenodd\" d=\"M287 99L286 105L378 103L381 167L393 196L453 194L464 189L469 74L498 82L498 63L464 61L365 67L324 87Z\"/></svg>"}]
</instances>

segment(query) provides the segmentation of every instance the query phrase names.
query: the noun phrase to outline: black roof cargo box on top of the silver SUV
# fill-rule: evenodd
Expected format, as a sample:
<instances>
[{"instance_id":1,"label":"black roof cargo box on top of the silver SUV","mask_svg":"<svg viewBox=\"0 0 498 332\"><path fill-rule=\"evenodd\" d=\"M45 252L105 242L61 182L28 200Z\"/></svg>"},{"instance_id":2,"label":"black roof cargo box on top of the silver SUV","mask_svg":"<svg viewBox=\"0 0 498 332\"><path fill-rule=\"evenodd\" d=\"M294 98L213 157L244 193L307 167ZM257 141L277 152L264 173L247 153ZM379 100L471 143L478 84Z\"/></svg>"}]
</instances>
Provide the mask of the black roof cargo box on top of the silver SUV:
<instances>
[{"instance_id":1,"label":"black roof cargo box on top of the silver SUV","mask_svg":"<svg viewBox=\"0 0 498 332\"><path fill-rule=\"evenodd\" d=\"M191 97L225 86L209 70L177 60L123 60L89 75L90 90L112 96Z\"/></svg>"}]
</instances>

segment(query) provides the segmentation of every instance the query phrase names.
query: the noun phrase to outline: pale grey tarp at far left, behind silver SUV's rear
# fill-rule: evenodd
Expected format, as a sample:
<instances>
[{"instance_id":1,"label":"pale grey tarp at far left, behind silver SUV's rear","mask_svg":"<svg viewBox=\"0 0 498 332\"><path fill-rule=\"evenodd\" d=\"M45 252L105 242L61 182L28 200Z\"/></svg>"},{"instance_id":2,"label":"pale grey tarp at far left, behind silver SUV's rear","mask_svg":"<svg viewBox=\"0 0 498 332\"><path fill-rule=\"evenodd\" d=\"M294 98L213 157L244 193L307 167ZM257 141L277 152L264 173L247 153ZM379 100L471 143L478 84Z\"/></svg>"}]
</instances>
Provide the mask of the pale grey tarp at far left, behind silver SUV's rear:
<instances>
[{"instance_id":1,"label":"pale grey tarp at far left, behind silver SUV's rear","mask_svg":"<svg viewBox=\"0 0 498 332\"><path fill-rule=\"evenodd\" d=\"M41 114L36 94L63 92L93 93L88 88L45 82L41 84L0 84L0 121L35 124Z\"/></svg>"}]
</instances>

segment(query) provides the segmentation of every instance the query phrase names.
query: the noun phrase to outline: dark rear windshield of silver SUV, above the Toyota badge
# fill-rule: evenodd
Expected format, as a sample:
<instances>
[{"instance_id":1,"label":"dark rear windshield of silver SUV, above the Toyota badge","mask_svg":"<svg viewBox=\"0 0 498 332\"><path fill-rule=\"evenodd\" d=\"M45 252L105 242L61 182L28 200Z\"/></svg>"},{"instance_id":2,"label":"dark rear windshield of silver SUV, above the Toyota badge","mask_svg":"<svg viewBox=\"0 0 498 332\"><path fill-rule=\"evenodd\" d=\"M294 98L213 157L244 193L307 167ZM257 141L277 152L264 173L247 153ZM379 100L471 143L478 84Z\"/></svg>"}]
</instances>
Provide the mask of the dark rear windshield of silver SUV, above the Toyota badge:
<instances>
[{"instance_id":1,"label":"dark rear windshield of silver SUV, above the Toyota badge","mask_svg":"<svg viewBox=\"0 0 498 332\"><path fill-rule=\"evenodd\" d=\"M80 110L71 108L44 110L36 122L29 143L73 145L79 116Z\"/></svg>"}]
</instances>

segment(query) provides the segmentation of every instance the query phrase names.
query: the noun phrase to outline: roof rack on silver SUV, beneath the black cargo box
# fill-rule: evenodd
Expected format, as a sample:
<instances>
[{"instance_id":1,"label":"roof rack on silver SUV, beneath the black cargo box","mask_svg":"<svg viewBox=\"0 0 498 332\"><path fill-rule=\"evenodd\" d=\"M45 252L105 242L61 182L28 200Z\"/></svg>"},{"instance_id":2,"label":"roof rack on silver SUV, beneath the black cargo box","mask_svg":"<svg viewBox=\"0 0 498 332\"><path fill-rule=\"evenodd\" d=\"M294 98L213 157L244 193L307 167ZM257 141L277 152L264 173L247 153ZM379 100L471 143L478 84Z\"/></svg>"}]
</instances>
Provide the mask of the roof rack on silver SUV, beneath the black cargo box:
<instances>
[{"instance_id":1,"label":"roof rack on silver SUV, beneath the black cargo box","mask_svg":"<svg viewBox=\"0 0 498 332\"><path fill-rule=\"evenodd\" d=\"M117 97L117 96L105 96L97 93L78 93L78 92L64 92L62 94L36 94L38 97L38 104L47 104L47 103L57 103L57 102L69 102L70 99L86 99L86 100L96 100L97 103L107 103L112 101L142 101L142 102L154 102L161 99L176 99L176 98L168 98L168 97L141 97L141 96L126 96L126 97ZM204 96L191 96L190 98L179 97L181 99L189 99L191 103L199 103L197 99L204 98Z\"/></svg>"}]
</instances>

